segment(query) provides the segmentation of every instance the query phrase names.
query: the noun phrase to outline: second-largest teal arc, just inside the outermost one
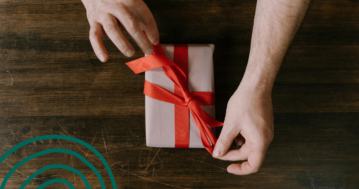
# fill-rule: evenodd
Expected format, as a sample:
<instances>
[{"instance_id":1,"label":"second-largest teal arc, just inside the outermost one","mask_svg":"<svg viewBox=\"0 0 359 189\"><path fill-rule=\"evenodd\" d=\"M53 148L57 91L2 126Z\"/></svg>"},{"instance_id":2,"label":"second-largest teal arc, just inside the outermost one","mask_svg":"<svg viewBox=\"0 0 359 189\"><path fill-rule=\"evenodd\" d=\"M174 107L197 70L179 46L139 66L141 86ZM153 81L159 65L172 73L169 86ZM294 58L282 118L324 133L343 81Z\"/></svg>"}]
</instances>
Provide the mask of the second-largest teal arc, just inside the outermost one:
<instances>
[{"instance_id":1,"label":"second-largest teal arc, just inside the outermost one","mask_svg":"<svg viewBox=\"0 0 359 189\"><path fill-rule=\"evenodd\" d=\"M71 151L69 149L62 149L62 148L47 149L47 150L37 152L37 153L35 153L35 154L31 155L31 156L28 156L28 157L24 158L19 163L17 163L13 168L11 168L11 170L8 172L8 174L6 174L3 182L1 183L0 189L5 188L5 184L8 181L8 179L10 178L11 174L13 174L13 172L16 169L18 169L21 165L23 165L24 163L26 163L29 160L32 160L35 157L38 157L38 156L41 156L41 155L44 155L44 154L48 154L48 153L55 153L55 152L68 153L68 154L71 154L73 156L78 157L82 162L84 162L87 166L89 166L90 169L93 170L93 172L95 172L95 174L97 175L98 180L100 181L101 188L105 189L105 183L103 182L103 179L102 179L102 176L101 176L100 172L98 172L98 170L90 162L88 162L85 158L83 158L77 152Z\"/></svg>"}]
</instances>

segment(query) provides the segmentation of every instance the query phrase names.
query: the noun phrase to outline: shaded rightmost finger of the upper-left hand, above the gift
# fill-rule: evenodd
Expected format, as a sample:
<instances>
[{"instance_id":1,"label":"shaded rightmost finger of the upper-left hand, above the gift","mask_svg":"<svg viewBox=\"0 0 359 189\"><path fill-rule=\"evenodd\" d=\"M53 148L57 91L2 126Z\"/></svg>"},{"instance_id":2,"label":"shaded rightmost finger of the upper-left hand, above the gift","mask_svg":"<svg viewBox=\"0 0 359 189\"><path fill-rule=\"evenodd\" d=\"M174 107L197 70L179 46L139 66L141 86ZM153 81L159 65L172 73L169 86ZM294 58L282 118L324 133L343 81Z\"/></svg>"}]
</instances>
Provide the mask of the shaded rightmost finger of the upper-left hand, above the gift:
<instances>
[{"instance_id":1,"label":"shaded rightmost finger of the upper-left hand, above the gift","mask_svg":"<svg viewBox=\"0 0 359 189\"><path fill-rule=\"evenodd\" d=\"M145 2L141 1L139 9L132 10L133 15L135 16L137 22L140 24L141 28L146 32L148 39L151 41L152 45L158 45L159 43L159 34L157 29L157 24L153 15L148 9Z\"/></svg>"}]
</instances>

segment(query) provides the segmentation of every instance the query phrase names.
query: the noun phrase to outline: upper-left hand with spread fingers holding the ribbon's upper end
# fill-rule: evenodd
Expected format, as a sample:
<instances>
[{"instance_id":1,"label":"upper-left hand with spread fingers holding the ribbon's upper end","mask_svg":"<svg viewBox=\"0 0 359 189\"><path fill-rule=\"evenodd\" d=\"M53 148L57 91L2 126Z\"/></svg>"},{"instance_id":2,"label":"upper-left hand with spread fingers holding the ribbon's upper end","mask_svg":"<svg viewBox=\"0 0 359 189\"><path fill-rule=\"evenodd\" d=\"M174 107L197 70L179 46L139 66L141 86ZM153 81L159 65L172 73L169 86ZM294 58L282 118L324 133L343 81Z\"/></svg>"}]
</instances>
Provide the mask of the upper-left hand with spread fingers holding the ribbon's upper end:
<instances>
[{"instance_id":1,"label":"upper-left hand with spread fingers holding the ribbon's upper end","mask_svg":"<svg viewBox=\"0 0 359 189\"><path fill-rule=\"evenodd\" d=\"M158 45L159 34L151 11L142 0L82 0L90 23L90 42L96 56L102 62L108 60L103 45L104 32L125 55L132 56L135 49L121 32L125 28L132 40L147 55ZM146 32L146 35L143 33Z\"/></svg>"}]
</instances>

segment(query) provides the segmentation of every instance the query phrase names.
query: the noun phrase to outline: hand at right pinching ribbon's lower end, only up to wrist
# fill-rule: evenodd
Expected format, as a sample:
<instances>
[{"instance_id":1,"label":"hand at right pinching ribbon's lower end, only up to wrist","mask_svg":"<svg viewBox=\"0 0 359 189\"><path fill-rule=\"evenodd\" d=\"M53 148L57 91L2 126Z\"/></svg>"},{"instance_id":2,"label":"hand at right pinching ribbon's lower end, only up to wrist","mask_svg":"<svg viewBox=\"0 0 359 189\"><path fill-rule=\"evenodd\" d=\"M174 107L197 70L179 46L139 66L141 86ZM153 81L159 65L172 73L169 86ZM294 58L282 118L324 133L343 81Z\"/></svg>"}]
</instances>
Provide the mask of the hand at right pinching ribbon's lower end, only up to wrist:
<instances>
[{"instance_id":1,"label":"hand at right pinching ribbon's lower end, only up to wrist","mask_svg":"<svg viewBox=\"0 0 359 189\"><path fill-rule=\"evenodd\" d=\"M222 132L213 151L221 160L242 161L227 171L246 175L259 171L269 143L274 137L271 89L257 88L241 82L230 97ZM229 149L236 139L238 149Z\"/></svg>"}]
</instances>

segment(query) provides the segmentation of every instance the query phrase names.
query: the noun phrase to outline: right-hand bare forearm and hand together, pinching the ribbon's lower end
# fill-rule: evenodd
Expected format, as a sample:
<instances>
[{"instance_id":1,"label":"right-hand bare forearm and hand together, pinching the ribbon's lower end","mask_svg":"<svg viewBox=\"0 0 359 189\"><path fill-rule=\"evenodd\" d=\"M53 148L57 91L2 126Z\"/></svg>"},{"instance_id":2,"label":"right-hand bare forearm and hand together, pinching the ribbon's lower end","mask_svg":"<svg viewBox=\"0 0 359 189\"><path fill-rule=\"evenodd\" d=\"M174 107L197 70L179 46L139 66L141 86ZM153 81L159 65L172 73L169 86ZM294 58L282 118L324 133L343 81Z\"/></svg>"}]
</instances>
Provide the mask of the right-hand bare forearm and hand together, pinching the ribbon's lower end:
<instances>
[{"instance_id":1,"label":"right-hand bare forearm and hand together, pinching the ribbon's lower end","mask_svg":"<svg viewBox=\"0 0 359 189\"><path fill-rule=\"evenodd\" d=\"M258 0L246 72L227 104L222 132L213 151L221 160L243 161L227 171L246 175L260 170L274 137L271 91L290 42L310 0ZM229 149L236 139L238 149Z\"/></svg>"}]
</instances>

